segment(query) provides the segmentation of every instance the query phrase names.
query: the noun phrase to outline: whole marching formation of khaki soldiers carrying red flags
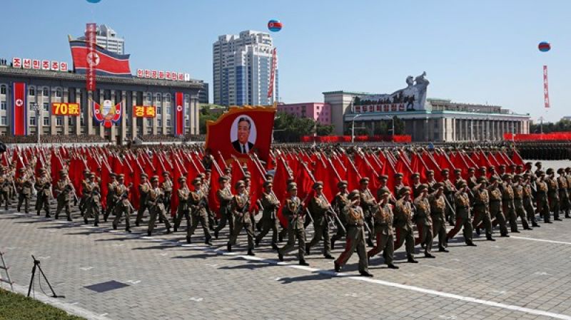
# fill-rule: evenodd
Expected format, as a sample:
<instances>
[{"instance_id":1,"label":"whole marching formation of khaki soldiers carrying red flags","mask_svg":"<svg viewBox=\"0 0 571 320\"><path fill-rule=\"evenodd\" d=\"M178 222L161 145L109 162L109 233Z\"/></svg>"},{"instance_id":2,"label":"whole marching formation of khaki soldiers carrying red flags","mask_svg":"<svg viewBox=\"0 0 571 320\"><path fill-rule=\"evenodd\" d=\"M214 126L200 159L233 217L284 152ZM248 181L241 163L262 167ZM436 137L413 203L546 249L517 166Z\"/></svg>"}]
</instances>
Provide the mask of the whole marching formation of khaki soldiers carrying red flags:
<instances>
[{"instance_id":1,"label":"whole marching formation of khaki soldiers carrying red flags","mask_svg":"<svg viewBox=\"0 0 571 320\"><path fill-rule=\"evenodd\" d=\"M520 232L517 220L531 230L571 217L571 167L544 171L537 162L534 170L515 150L282 148L263 161L196 147L16 148L0 162L4 210L17 197L16 210L29 213L35 197L36 215L57 220L65 211L72 221L76 205L85 224L131 232L133 220L136 227L147 220L148 236L164 224L166 233L185 229L187 243L201 237L209 245L228 229L228 252L243 232L248 255L271 232L280 261L297 251L307 266L305 256L323 242L320 254L334 260L336 272L357 252L365 277L373 277L368 266L378 254L398 269L394 252L403 244L407 261L418 263L415 247L435 258L433 244L448 252L460 229L475 247L475 234L495 241L496 227L500 237ZM343 239L335 259L332 249Z\"/></svg>"}]
</instances>

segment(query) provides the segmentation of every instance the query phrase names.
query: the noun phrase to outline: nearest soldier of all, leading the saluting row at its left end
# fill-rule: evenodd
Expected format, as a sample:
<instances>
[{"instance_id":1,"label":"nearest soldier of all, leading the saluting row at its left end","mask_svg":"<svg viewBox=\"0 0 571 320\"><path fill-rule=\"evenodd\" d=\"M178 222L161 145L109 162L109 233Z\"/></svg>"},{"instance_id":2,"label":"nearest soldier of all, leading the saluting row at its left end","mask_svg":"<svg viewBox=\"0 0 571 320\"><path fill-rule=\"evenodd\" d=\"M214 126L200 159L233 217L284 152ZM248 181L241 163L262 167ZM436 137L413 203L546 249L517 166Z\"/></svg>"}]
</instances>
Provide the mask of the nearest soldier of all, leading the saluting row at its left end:
<instances>
[{"instance_id":1,"label":"nearest soldier of all, leading the saluting row at its left end","mask_svg":"<svg viewBox=\"0 0 571 320\"><path fill-rule=\"evenodd\" d=\"M361 194L359 190L353 190L349 194L351 205L347 208L347 241L345 251L335 260L335 272L341 271L356 249L359 255L359 273L363 277L373 277L373 274L369 273L369 262L365 250L365 215L359 206Z\"/></svg>"}]
</instances>

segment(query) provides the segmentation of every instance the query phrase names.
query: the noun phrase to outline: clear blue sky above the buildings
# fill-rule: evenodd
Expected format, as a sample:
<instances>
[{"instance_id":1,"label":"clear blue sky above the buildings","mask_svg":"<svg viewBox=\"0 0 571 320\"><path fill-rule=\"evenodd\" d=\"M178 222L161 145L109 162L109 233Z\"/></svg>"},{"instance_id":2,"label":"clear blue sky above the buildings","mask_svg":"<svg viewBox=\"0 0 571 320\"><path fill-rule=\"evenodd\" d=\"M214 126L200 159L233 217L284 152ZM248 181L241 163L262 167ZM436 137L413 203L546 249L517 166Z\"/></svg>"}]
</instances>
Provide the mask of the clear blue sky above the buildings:
<instances>
[{"instance_id":1,"label":"clear blue sky above the buildings","mask_svg":"<svg viewBox=\"0 0 571 320\"><path fill-rule=\"evenodd\" d=\"M0 57L9 60L71 63L67 35L94 21L126 39L133 73L176 70L211 83L219 35L267 31L269 19L280 19L273 38L286 103L323 101L323 91L341 89L390 93L426 71L432 98L502 105L534 119L571 115L571 1L6 0L2 11ZM537 50L542 40L549 53Z\"/></svg>"}]
</instances>

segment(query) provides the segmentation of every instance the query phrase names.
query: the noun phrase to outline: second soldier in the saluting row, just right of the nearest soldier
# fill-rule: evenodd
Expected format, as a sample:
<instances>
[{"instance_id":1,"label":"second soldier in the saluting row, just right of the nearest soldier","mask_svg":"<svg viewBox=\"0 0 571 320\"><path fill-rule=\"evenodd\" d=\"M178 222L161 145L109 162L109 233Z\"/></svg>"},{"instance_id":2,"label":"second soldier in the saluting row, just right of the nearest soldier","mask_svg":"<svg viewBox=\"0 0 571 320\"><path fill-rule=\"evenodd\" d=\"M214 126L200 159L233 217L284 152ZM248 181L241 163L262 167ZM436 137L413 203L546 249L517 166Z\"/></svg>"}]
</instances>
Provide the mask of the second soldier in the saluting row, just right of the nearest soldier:
<instances>
[{"instance_id":1,"label":"second soldier in the saluting row, just right of the nearest soldier","mask_svg":"<svg viewBox=\"0 0 571 320\"><path fill-rule=\"evenodd\" d=\"M395 239L393 237L393 206L389 203L390 190L387 187L382 187L378 190L379 205L375 207L373 215L375 216L375 235L377 245L367 252L367 257L370 259L375 254L383 251L385 264L389 269L398 269L393 264L393 257L395 254Z\"/></svg>"}]
</instances>

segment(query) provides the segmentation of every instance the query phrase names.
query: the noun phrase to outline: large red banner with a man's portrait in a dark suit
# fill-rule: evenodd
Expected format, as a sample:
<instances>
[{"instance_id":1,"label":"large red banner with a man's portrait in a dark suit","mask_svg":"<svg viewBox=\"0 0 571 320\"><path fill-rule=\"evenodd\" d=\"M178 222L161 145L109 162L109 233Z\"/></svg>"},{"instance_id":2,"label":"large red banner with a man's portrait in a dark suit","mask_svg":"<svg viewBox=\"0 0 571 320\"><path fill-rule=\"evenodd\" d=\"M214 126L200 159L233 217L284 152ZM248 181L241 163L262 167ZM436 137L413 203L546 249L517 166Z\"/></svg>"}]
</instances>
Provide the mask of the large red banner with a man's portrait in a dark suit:
<instances>
[{"instance_id":1,"label":"large red banner with a man's portrait in a dark suit","mask_svg":"<svg viewBox=\"0 0 571 320\"><path fill-rule=\"evenodd\" d=\"M256 153L268 161L272 142L275 107L231 107L216 121L206 123L206 148L218 151L225 160L232 156L247 160Z\"/></svg>"}]
</instances>

